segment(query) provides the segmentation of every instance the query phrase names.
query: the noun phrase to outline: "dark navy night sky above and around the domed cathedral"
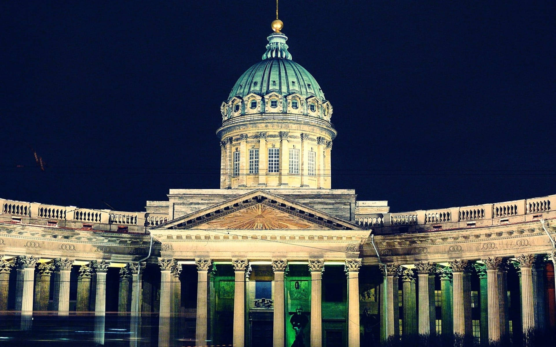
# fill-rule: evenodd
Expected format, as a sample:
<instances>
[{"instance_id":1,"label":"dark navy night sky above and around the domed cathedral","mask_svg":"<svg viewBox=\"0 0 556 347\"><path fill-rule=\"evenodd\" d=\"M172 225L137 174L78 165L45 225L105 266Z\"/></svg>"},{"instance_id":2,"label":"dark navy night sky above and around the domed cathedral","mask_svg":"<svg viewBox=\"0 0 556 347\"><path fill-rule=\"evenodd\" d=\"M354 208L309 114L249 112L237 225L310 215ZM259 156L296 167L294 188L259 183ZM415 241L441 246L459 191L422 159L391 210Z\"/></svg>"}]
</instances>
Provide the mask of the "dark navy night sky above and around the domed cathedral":
<instances>
[{"instance_id":1,"label":"dark navy night sky above and around the domed cathedral","mask_svg":"<svg viewBox=\"0 0 556 347\"><path fill-rule=\"evenodd\" d=\"M2 2L0 197L143 210L219 188L220 104L274 5ZM553 1L282 0L280 19L334 107L332 188L393 212L556 193Z\"/></svg>"}]
</instances>

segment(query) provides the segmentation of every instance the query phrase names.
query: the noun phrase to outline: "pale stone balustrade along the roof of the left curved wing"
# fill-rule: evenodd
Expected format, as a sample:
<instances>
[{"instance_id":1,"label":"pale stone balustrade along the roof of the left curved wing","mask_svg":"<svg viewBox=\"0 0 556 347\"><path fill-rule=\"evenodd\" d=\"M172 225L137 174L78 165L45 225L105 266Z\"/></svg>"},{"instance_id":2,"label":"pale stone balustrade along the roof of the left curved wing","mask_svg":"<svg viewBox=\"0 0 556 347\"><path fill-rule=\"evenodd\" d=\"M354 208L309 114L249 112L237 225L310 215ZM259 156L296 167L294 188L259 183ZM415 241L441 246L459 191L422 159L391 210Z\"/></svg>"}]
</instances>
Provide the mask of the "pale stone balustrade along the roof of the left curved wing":
<instances>
[{"instance_id":1,"label":"pale stone balustrade along the roof of the left curved wing","mask_svg":"<svg viewBox=\"0 0 556 347\"><path fill-rule=\"evenodd\" d=\"M97 210L78 208L75 206L58 206L39 203L27 203L0 199L0 220L4 222L22 222L44 224L49 226L77 229L105 230L100 224L114 225L119 232L136 232L145 227L168 222L168 215L147 212L121 212L113 210ZM25 219L25 220L23 220ZM68 224L69 223L69 224ZM132 227L129 229L128 227Z\"/></svg>"}]
</instances>

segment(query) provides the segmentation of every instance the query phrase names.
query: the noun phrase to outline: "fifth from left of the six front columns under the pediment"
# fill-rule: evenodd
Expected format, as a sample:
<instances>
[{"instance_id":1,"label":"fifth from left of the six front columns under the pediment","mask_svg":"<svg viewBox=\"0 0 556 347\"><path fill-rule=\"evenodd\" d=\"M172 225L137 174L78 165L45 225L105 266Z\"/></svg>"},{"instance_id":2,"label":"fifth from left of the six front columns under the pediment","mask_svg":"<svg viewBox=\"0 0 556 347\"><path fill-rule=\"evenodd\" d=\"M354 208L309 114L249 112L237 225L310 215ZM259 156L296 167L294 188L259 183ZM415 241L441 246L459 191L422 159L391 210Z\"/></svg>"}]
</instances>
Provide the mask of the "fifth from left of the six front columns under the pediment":
<instances>
[{"instance_id":1,"label":"fifth from left of the six front columns under the pediment","mask_svg":"<svg viewBox=\"0 0 556 347\"><path fill-rule=\"evenodd\" d=\"M311 347L322 346L322 271L324 260L309 260L311 271Z\"/></svg>"}]
</instances>

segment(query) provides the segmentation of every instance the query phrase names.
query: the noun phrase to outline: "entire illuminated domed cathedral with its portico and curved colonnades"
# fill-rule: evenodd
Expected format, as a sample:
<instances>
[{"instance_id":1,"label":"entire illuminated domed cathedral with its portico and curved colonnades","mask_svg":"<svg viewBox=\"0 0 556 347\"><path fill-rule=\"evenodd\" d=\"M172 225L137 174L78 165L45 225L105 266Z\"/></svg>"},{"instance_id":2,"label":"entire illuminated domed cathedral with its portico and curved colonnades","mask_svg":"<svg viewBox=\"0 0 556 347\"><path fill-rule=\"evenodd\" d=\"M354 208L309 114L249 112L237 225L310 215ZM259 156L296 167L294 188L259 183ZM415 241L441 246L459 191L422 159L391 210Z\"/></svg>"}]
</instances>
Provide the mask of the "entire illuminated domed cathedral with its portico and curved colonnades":
<instances>
[{"instance_id":1,"label":"entire illuminated domed cathedral with its portico and curved colonnades","mask_svg":"<svg viewBox=\"0 0 556 347\"><path fill-rule=\"evenodd\" d=\"M555 329L556 195L393 213L331 189L332 105L272 29L220 107L220 189L170 189L146 212L0 200L10 329L238 347L527 344Z\"/></svg>"}]
</instances>

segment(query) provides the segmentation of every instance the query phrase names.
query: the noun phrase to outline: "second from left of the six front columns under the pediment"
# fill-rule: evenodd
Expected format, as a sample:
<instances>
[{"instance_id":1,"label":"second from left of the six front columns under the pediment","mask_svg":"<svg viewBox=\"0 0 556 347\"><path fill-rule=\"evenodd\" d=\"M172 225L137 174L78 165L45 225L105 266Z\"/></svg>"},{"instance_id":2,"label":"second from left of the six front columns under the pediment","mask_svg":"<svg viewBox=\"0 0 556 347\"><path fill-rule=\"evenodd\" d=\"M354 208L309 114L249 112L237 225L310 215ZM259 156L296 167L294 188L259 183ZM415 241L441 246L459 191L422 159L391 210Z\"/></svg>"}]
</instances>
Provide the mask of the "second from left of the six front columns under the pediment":
<instances>
[{"instance_id":1,"label":"second from left of the six front columns under the pediment","mask_svg":"<svg viewBox=\"0 0 556 347\"><path fill-rule=\"evenodd\" d=\"M197 320L195 322L196 346L207 345L207 326L209 326L208 315L208 293L209 270L212 260L205 258L195 259L197 265Z\"/></svg>"}]
</instances>

